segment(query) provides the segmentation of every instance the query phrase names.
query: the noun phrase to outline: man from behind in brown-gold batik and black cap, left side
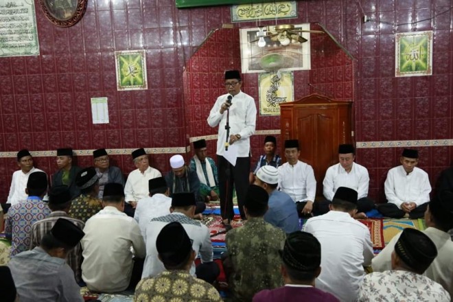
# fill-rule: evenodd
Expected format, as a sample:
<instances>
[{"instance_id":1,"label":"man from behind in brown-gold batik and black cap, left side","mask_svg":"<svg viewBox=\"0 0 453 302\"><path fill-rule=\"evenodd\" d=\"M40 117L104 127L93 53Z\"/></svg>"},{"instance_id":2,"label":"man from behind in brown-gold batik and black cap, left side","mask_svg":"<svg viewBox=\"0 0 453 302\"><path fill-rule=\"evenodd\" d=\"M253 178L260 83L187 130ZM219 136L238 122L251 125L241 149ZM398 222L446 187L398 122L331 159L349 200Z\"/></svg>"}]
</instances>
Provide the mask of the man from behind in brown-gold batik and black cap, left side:
<instances>
[{"instance_id":1,"label":"man from behind in brown-gold batik and black cap, left side","mask_svg":"<svg viewBox=\"0 0 453 302\"><path fill-rule=\"evenodd\" d=\"M94 167L86 167L75 176L75 184L80 189L80 196L74 198L69 208L69 216L86 222L95 213L102 210L99 194L99 177Z\"/></svg>"}]
</instances>

